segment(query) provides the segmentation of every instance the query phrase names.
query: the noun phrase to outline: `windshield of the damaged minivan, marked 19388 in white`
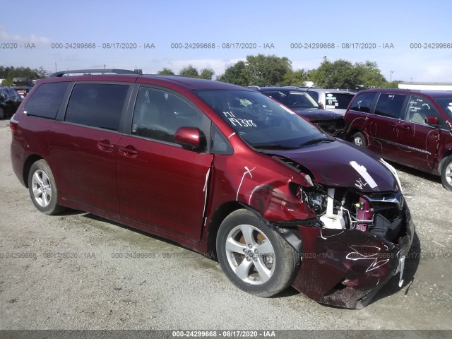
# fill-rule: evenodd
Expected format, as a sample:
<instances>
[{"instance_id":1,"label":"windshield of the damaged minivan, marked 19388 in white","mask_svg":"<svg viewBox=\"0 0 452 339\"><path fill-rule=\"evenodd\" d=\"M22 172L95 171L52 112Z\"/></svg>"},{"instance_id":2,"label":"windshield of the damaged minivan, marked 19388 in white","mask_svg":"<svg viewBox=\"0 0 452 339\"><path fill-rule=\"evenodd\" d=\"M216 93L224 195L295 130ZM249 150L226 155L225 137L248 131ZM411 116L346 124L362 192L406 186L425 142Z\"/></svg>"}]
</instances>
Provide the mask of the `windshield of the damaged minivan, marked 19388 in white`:
<instances>
[{"instance_id":1,"label":"windshield of the damaged minivan, marked 19388 in white","mask_svg":"<svg viewBox=\"0 0 452 339\"><path fill-rule=\"evenodd\" d=\"M299 148L334 141L295 112L261 93L198 90L196 94L254 148Z\"/></svg>"}]
</instances>

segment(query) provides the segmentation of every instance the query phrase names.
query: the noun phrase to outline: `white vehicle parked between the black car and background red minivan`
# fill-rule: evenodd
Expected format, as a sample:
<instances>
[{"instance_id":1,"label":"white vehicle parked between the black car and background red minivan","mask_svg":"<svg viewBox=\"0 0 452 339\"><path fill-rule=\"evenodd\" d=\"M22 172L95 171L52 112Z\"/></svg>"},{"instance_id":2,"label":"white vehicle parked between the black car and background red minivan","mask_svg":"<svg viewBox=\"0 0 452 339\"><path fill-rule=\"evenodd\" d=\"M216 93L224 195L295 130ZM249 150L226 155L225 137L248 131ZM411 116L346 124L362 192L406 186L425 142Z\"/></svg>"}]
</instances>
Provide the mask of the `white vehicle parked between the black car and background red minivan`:
<instances>
[{"instance_id":1,"label":"white vehicle parked between the black car and background red minivan","mask_svg":"<svg viewBox=\"0 0 452 339\"><path fill-rule=\"evenodd\" d=\"M324 109L344 115L348 104L355 96L349 90L327 90L324 88L301 88L319 102Z\"/></svg>"}]
</instances>

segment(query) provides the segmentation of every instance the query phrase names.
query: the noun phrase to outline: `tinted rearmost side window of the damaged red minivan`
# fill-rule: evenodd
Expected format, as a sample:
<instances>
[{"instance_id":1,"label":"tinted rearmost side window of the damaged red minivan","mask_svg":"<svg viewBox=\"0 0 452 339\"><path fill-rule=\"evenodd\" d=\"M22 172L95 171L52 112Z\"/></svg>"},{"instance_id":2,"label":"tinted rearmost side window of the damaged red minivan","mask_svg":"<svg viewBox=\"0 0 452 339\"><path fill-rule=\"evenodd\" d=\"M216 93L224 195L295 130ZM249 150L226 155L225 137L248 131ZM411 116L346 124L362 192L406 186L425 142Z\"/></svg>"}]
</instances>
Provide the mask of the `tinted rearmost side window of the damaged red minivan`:
<instances>
[{"instance_id":1,"label":"tinted rearmost side window of the damaged red minivan","mask_svg":"<svg viewBox=\"0 0 452 339\"><path fill-rule=\"evenodd\" d=\"M26 114L55 119L55 117L57 117L59 105L61 105L64 93L66 93L69 85L69 81L61 83L43 83L40 85L25 104Z\"/></svg>"}]
</instances>

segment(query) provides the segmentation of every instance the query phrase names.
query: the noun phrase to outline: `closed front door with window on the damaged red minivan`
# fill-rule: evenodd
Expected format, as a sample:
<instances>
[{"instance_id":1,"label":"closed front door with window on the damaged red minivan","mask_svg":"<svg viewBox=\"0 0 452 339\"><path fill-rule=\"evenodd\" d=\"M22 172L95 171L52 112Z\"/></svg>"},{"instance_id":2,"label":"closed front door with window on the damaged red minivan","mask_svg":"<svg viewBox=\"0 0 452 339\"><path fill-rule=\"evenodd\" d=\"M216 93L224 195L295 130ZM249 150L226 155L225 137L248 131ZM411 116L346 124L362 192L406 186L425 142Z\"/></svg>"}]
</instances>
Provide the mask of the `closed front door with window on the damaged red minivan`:
<instances>
[{"instance_id":1,"label":"closed front door with window on the damaged red minivan","mask_svg":"<svg viewBox=\"0 0 452 339\"><path fill-rule=\"evenodd\" d=\"M117 150L121 218L197 242L201 238L213 155L174 143L179 127L208 135L208 119L186 98L158 88L138 90L130 135Z\"/></svg>"}]
</instances>

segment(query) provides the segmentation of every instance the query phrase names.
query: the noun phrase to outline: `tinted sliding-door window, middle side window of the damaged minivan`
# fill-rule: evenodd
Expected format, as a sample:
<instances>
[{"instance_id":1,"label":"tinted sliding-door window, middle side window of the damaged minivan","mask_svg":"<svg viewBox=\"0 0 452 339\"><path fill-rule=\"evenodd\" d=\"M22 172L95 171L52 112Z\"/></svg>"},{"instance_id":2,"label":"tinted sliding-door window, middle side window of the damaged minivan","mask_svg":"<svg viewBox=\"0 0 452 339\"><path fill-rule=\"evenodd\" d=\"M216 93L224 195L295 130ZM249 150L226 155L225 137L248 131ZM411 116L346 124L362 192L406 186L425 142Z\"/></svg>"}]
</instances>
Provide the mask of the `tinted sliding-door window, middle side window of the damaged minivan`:
<instances>
[{"instance_id":1,"label":"tinted sliding-door window, middle side window of the damaged minivan","mask_svg":"<svg viewBox=\"0 0 452 339\"><path fill-rule=\"evenodd\" d=\"M64 121L117 131L129 85L79 83L74 86Z\"/></svg>"}]
</instances>

